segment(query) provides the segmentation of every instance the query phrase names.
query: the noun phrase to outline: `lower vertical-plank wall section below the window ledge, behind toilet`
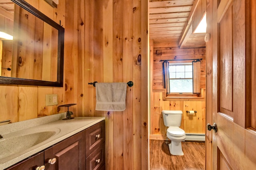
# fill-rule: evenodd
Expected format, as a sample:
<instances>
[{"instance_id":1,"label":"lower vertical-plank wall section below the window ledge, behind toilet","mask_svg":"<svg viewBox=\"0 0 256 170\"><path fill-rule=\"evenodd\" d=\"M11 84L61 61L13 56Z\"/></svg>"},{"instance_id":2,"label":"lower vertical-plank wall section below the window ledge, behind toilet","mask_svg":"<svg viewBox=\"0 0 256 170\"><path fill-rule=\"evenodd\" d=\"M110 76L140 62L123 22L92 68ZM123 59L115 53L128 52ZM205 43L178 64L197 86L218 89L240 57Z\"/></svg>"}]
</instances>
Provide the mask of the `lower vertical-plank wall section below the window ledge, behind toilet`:
<instances>
[{"instance_id":1,"label":"lower vertical-plank wall section below the window ledge, behind toilet","mask_svg":"<svg viewBox=\"0 0 256 170\"><path fill-rule=\"evenodd\" d=\"M150 110L150 139L166 139L166 129L162 110L181 110L182 121L180 128L186 133L203 133L206 129L206 102L205 100L163 100L162 92L152 92L153 106ZM186 111L195 110L197 113L189 115Z\"/></svg>"}]
</instances>

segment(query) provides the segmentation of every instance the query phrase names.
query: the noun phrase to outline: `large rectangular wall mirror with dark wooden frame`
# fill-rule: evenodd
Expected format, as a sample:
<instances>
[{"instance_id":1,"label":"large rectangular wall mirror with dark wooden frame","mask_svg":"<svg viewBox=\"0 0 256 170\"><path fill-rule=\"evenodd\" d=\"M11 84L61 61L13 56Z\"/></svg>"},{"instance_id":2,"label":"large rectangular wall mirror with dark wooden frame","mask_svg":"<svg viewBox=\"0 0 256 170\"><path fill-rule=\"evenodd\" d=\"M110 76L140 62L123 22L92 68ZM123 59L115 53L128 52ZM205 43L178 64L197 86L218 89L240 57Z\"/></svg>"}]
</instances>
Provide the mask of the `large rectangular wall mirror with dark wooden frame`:
<instances>
[{"instance_id":1,"label":"large rectangular wall mirror with dark wooden frame","mask_svg":"<svg viewBox=\"0 0 256 170\"><path fill-rule=\"evenodd\" d=\"M24 0L0 0L1 32L13 38L0 37L0 84L63 87L63 27Z\"/></svg>"}]
</instances>

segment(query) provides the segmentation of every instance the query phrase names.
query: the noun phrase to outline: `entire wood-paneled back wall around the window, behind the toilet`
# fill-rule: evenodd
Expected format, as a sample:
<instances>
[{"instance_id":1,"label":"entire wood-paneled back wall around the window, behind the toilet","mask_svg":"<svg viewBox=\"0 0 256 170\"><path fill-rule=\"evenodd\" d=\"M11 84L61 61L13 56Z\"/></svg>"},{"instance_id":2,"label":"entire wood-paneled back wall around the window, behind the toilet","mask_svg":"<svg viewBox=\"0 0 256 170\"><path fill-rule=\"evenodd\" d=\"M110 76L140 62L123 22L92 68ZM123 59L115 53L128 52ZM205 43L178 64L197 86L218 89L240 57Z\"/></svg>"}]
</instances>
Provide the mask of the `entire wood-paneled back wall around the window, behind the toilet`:
<instances>
[{"instance_id":1,"label":"entire wood-paneled back wall around the window, behind the toilet","mask_svg":"<svg viewBox=\"0 0 256 170\"><path fill-rule=\"evenodd\" d=\"M162 62L160 60L168 59L200 59L201 62L201 80L200 88L206 88L206 51L205 48L196 49L178 49L177 47L168 48L168 44L155 44L154 53L151 53L151 74L152 90L151 109L150 109L150 139L166 139L166 127L162 117L162 110L182 110L181 128L186 133L205 133L206 128L206 102L205 98L193 99L166 99L162 92ZM152 47L151 47L152 48ZM182 61L180 61L182 62ZM195 115L189 115L186 111L196 110Z\"/></svg>"}]
</instances>

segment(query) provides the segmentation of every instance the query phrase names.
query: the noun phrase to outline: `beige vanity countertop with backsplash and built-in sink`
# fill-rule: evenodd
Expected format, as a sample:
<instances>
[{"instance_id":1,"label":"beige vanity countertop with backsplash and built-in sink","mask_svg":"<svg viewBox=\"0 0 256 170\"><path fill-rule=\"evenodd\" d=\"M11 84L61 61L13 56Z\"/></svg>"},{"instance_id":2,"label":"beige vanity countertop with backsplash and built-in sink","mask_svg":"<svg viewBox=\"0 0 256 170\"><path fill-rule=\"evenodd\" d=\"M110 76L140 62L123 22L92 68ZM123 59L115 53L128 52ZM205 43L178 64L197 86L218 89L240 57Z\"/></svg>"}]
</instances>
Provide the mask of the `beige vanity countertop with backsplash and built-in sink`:
<instances>
[{"instance_id":1,"label":"beige vanity countertop with backsplash and built-in sink","mask_svg":"<svg viewBox=\"0 0 256 170\"><path fill-rule=\"evenodd\" d=\"M65 117L66 113L60 113L0 126L0 135L3 137L0 139L0 144L1 141L17 136L23 139L22 137L35 133L42 135L42 137L45 137L44 132L50 131L53 134L48 139L32 147L21 149L18 153L14 151L14 154L10 154L13 146L20 145L22 147L24 144L26 145L28 141L24 140L20 143L10 143L7 147L0 146L0 170L8 168L105 119L105 117L75 117L70 120L62 120ZM25 137L24 139L27 138ZM6 154L10 155L6 156Z\"/></svg>"}]
</instances>

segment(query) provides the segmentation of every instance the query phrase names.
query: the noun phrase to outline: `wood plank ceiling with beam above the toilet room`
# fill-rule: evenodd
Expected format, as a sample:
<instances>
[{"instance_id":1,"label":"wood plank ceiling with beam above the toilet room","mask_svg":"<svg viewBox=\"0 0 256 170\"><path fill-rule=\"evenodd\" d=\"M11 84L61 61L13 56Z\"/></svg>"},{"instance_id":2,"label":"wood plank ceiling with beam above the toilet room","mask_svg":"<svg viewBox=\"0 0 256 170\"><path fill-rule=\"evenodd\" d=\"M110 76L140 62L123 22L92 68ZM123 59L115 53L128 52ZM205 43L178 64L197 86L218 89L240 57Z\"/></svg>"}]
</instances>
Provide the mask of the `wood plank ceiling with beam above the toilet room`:
<instances>
[{"instance_id":1,"label":"wood plank ceiling with beam above the toilet room","mask_svg":"<svg viewBox=\"0 0 256 170\"><path fill-rule=\"evenodd\" d=\"M149 0L150 39L153 39L154 44L168 44L173 48L205 47L205 33L192 33L193 16L199 15L196 8L202 8L204 2L206 3L204 0Z\"/></svg>"}]
</instances>

